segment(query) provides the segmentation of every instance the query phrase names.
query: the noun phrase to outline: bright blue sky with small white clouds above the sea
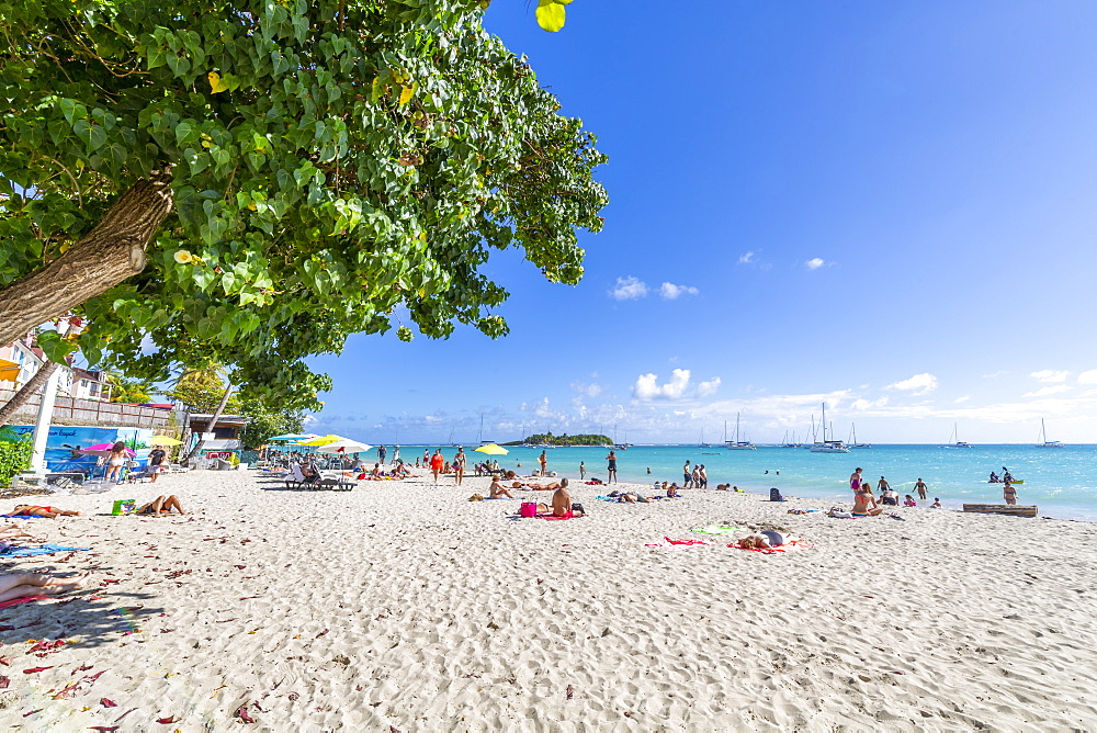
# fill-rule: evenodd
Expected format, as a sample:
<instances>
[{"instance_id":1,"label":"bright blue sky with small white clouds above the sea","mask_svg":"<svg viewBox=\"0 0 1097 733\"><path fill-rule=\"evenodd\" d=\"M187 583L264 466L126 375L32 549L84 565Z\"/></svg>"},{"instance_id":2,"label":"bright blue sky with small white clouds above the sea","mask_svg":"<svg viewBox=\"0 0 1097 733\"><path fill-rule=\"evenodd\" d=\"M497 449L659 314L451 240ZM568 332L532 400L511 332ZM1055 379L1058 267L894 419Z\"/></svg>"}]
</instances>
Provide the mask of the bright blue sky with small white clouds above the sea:
<instances>
[{"instance_id":1,"label":"bright blue sky with small white clouds above the sea","mask_svg":"<svg viewBox=\"0 0 1097 733\"><path fill-rule=\"evenodd\" d=\"M511 335L355 337L312 429L1097 442L1097 3L496 0L610 162L587 275L487 272Z\"/></svg>"}]
</instances>

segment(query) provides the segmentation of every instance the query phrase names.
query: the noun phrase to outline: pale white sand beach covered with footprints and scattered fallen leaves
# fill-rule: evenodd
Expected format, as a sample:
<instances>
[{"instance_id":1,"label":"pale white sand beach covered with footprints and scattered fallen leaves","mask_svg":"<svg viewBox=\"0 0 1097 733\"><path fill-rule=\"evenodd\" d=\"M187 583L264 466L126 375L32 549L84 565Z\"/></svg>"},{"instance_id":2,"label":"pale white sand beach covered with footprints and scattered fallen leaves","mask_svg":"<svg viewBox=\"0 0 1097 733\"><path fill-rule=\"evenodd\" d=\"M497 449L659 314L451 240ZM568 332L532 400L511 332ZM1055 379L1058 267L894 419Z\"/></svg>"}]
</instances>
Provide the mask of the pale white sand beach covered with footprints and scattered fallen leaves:
<instances>
[{"instance_id":1,"label":"pale white sand beach covered with footprints and scattered fallen leaves","mask_svg":"<svg viewBox=\"0 0 1097 733\"><path fill-rule=\"evenodd\" d=\"M486 483L281 490L204 472L37 499L86 516L21 525L91 550L5 568L92 583L0 611L0 724L1097 729L1095 525L918 508L838 520L787 514L819 501L715 490L626 506L590 486L573 487L588 517L545 521L467 501ZM158 493L190 514L101 516ZM691 531L709 525L813 546L730 549L736 534ZM665 537L710 544L646 546ZM29 653L32 640L66 643Z\"/></svg>"}]
</instances>

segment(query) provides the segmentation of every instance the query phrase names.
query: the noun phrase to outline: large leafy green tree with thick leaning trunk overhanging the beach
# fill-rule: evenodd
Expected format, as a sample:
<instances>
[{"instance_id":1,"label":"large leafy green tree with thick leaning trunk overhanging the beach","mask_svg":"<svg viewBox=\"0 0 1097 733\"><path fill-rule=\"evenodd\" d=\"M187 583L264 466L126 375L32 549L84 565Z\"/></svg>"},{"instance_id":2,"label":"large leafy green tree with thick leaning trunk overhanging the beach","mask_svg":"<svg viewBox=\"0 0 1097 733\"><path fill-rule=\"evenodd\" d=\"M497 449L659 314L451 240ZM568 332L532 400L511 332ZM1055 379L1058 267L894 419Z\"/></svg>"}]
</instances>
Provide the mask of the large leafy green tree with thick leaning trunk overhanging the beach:
<instances>
[{"instance_id":1,"label":"large leafy green tree with thick leaning trunk overhanging the beach","mask_svg":"<svg viewBox=\"0 0 1097 733\"><path fill-rule=\"evenodd\" d=\"M217 361L316 407L303 359L350 334L505 334L480 267L518 247L578 282L604 157L482 12L0 0L0 342L71 312L54 360Z\"/></svg>"}]
</instances>

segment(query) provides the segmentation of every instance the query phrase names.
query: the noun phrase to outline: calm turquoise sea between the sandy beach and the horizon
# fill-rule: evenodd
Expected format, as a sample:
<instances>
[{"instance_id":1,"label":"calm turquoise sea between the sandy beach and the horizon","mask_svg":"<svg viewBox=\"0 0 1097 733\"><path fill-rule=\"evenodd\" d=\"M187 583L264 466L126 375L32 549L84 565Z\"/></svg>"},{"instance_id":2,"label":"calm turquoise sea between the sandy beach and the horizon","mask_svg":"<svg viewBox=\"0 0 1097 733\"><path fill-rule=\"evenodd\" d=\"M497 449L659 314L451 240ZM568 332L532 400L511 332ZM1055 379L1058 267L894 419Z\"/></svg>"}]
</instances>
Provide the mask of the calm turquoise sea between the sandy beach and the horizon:
<instances>
[{"instance_id":1,"label":"calm turquoise sea between the sandy beach and the horizon","mask_svg":"<svg viewBox=\"0 0 1097 733\"><path fill-rule=\"evenodd\" d=\"M414 463L425 448L433 451L438 446L403 446L402 458ZM466 446L465 450L470 452L472 447ZM517 467L521 463L522 471L536 467L539 449L508 450L507 455L498 456L500 465ZM455 452L454 448L442 447L448 460ZM608 453L606 448L550 449L548 470L578 478L583 461L588 474L604 480ZM375 450L370 454L375 455ZM470 461L476 455L479 454L470 452ZM849 453L812 453L803 448L778 447L730 451L695 444L634 446L618 451L618 459L621 481L681 482L681 466L689 460L704 464L710 486L731 483L757 493L768 493L771 486L777 486L785 495L844 501L850 498L849 474L860 466L873 487L880 476L886 476L901 495L914 494L914 484L920 477L929 485L930 500L940 497L945 507L955 509L964 501L1000 504L1002 485L988 484L987 478L991 471L1000 474L1002 466L1007 466L1015 478L1025 481L1017 486L1018 504L1036 504L1044 517L1097 521L1097 446L873 446ZM388 460L392 460L392 446L388 446ZM652 470L651 475L647 469Z\"/></svg>"}]
</instances>

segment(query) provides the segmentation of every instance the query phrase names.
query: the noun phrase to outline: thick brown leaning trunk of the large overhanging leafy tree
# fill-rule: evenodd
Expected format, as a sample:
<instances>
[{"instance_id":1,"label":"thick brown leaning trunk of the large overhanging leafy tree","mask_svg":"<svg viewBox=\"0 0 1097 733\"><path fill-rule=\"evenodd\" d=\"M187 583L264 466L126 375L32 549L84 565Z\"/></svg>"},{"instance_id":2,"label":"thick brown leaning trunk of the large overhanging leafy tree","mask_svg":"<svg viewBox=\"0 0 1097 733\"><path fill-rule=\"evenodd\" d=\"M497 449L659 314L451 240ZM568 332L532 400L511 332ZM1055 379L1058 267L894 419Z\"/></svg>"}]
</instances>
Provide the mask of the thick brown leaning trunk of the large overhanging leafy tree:
<instances>
[{"instance_id":1,"label":"thick brown leaning trunk of the large overhanging leafy tree","mask_svg":"<svg viewBox=\"0 0 1097 733\"><path fill-rule=\"evenodd\" d=\"M172 205L169 176L139 180L68 251L0 290L0 343L15 340L145 269L145 249Z\"/></svg>"}]
</instances>

